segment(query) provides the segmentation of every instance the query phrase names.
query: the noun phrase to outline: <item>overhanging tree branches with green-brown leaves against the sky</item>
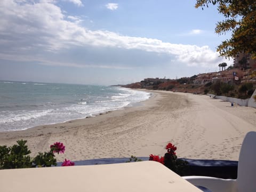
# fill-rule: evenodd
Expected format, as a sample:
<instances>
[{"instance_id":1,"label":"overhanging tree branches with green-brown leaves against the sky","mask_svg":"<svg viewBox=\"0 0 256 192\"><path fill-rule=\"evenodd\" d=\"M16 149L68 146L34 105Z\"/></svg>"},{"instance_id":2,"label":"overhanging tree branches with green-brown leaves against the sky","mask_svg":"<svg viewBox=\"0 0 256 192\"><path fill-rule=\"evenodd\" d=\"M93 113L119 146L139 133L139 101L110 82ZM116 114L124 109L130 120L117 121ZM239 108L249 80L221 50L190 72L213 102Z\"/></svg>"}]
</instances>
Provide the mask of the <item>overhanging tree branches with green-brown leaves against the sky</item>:
<instances>
[{"instance_id":1,"label":"overhanging tree branches with green-brown leaves against the sky","mask_svg":"<svg viewBox=\"0 0 256 192\"><path fill-rule=\"evenodd\" d=\"M217 4L218 11L226 19L217 23L215 33L231 31L231 38L223 41L217 51L228 58L239 53L256 58L256 1L255 0L197 0L196 8Z\"/></svg>"}]
</instances>

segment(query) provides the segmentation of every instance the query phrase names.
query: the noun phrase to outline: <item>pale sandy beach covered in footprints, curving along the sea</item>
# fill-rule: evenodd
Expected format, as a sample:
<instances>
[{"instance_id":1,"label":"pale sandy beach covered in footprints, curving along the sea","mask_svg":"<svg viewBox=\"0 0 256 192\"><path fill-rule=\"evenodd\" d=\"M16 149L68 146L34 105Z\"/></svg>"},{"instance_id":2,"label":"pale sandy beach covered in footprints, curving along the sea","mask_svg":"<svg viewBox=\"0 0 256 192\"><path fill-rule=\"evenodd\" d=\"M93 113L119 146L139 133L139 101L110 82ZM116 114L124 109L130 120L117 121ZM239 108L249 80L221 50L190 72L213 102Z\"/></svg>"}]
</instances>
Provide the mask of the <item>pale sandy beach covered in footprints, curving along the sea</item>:
<instances>
[{"instance_id":1,"label":"pale sandy beach covered in footprints, curving along the sea","mask_svg":"<svg viewBox=\"0 0 256 192\"><path fill-rule=\"evenodd\" d=\"M56 141L66 146L67 158L147 157L164 155L168 142L178 157L238 160L245 134L256 131L256 109L212 99L206 95L152 91L134 107L66 123L1 132L0 145L27 140L31 156L48 151Z\"/></svg>"}]
</instances>

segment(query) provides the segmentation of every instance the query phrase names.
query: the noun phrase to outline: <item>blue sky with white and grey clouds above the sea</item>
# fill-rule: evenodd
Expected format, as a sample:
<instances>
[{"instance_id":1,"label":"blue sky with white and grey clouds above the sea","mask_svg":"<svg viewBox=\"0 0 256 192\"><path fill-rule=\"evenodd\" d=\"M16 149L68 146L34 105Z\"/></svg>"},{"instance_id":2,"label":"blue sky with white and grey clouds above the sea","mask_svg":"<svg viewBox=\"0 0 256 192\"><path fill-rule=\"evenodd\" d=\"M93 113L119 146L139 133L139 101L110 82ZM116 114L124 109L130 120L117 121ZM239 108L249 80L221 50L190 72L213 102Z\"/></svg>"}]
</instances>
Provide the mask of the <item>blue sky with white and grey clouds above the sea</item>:
<instances>
[{"instance_id":1,"label":"blue sky with white and grey clouds above the sea","mask_svg":"<svg viewBox=\"0 0 256 192\"><path fill-rule=\"evenodd\" d=\"M1 0L0 80L116 85L228 66L217 7L193 0Z\"/></svg>"}]
</instances>

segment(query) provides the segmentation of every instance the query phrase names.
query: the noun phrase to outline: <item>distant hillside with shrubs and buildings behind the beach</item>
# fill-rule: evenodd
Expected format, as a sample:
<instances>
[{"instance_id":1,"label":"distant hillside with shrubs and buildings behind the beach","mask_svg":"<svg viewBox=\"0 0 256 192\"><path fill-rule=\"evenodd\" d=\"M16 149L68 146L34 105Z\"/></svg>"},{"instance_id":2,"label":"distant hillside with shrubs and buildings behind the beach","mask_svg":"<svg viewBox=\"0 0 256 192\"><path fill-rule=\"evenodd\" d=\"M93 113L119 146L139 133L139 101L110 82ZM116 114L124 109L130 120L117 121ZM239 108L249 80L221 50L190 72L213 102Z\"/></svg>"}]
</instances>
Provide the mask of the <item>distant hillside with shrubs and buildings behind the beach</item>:
<instances>
[{"instance_id":1,"label":"distant hillside with shrubs and buildings behind the beach","mask_svg":"<svg viewBox=\"0 0 256 192\"><path fill-rule=\"evenodd\" d=\"M221 79L216 80L215 78L213 78L214 81L206 81L207 83L198 84L198 79L200 78L202 79L202 75L183 77L175 80L165 78L146 78L141 82L121 86L131 89L165 90L194 94L212 93L240 99L250 98L256 87L256 83L253 82L241 83L241 81L234 80L225 82Z\"/></svg>"}]
</instances>

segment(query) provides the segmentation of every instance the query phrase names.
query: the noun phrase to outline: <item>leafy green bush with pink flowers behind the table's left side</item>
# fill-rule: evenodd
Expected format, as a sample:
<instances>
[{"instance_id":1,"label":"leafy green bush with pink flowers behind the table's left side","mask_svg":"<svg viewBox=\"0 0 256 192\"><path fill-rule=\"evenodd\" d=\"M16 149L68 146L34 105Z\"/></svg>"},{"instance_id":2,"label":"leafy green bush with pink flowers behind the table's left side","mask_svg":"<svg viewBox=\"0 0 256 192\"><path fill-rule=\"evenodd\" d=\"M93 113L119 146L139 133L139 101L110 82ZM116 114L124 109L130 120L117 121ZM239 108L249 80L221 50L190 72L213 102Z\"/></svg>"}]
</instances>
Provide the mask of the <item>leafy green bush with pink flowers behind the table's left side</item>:
<instances>
[{"instance_id":1,"label":"leafy green bush with pink flowers behind the table's left side","mask_svg":"<svg viewBox=\"0 0 256 192\"><path fill-rule=\"evenodd\" d=\"M31 158L26 145L26 140L17 141L18 145L12 147L0 146L0 169L17 169L28 167L50 167L56 166L56 158L54 153L64 153L65 146L63 143L55 142L50 146L50 151L38 153L34 158ZM73 162L65 159L62 166L74 165Z\"/></svg>"}]
</instances>

